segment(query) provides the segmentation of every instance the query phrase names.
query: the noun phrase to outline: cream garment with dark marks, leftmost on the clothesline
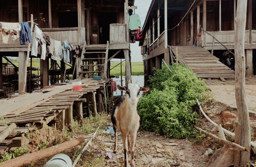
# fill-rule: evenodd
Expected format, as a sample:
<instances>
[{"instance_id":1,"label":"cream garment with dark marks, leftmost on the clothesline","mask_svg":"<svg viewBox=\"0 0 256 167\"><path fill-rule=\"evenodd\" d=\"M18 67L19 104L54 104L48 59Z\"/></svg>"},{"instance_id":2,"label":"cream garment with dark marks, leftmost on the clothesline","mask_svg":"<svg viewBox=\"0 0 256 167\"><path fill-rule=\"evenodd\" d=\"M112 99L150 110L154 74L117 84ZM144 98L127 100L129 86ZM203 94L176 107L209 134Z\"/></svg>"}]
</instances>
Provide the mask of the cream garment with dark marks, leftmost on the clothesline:
<instances>
[{"instance_id":1,"label":"cream garment with dark marks, leftmost on the clothesline","mask_svg":"<svg viewBox=\"0 0 256 167\"><path fill-rule=\"evenodd\" d=\"M19 38L20 24L12 22L0 22L0 40L3 43L8 43L9 37L12 40Z\"/></svg>"}]
</instances>

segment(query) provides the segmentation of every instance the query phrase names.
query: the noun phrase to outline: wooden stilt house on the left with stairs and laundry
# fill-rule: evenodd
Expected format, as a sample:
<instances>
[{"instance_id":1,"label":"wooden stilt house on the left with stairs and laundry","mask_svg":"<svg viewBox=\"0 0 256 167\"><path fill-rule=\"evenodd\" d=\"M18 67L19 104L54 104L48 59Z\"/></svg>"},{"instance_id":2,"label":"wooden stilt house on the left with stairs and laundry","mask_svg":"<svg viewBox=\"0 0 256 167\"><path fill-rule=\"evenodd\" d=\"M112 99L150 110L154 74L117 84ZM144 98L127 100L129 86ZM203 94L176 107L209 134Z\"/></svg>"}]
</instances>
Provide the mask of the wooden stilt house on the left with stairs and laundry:
<instances>
[{"instance_id":1,"label":"wooden stilt house on the left with stairs and laundry","mask_svg":"<svg viewBox=\"0 0 256 167\"><path fill-rule=\"evenodd\" d=\"M73 61L66 75L92 77L93 74L109 77L110 59L126 61L126 80L131 79L128 10L134 0L9 0L2 1L0 22L27 22L31 14L38 27L54 40L67 40L74 47L80 45L83 55ZM19 57L19 91L26 78L24 66L28 45L19 40L0 41L0 89L3 88L3 56ZM39 56L39 55L38 55ZM75 71L73 70L75 69ZM60 68L56 61L40 60L41 85L56 82L56 76L65 77L65 64ZM51 75L51 78L49 77ZM55 77L55 78L54 78ZM76 77L75 77L76 78Z\"/></svg>"}]
</instances>

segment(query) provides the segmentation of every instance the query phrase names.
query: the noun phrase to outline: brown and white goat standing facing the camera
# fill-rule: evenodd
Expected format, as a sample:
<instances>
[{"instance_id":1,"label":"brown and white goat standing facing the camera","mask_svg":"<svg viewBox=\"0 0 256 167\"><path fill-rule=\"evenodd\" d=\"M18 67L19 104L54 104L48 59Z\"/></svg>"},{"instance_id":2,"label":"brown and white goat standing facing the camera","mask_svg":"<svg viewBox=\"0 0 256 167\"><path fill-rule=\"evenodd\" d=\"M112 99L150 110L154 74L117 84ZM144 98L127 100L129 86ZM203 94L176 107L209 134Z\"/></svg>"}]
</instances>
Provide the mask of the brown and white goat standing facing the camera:
<instances>
[{"instance_id":1,"label":"brown and white goat standing facing the camera","mask_svg":"<svg viewBox=\"0 0 256 167\"><path fill-rule=\"evenodd\" d=\"M121 96L115 103L114 110L111 115L113 129L115 131L115 147L116 152L117 130L122 133L124 144L124 166L128 165L127 150L131 154L131 166L134 166L134 147L137 136L137 131L140 127L140 116L137 112L137 104L140 98L140 91L147 92L148 88L140 87L138 82L135 84L129 83L128 87L117 86L120 91L125 91L125 98ZM129 136L131 142L129 142Z\"/></svg>"}]
</instances>

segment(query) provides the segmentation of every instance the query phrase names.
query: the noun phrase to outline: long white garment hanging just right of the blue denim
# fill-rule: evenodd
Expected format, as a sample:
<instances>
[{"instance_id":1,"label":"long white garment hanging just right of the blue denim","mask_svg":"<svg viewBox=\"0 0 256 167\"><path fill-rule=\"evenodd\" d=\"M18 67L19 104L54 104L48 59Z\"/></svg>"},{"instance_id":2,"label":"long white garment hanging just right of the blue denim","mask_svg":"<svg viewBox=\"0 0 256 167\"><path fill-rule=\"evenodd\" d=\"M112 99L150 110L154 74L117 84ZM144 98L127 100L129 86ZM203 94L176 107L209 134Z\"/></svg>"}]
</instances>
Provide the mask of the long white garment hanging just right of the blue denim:
<instances>
[{"instance_id":1,"label":"long white garment hanging just right of the blue denim","mask_svg":"<svg viewBox=\"0 0 256 167\"><path fill-rule=\"evenodd\" d=\"M31 50L31 55L37 57L38 54L38 44L41 45L42 53L41 59L45 60L46 56L46 41L44 33L35 25L33 45Z\"/></svg>"}]
</instances>

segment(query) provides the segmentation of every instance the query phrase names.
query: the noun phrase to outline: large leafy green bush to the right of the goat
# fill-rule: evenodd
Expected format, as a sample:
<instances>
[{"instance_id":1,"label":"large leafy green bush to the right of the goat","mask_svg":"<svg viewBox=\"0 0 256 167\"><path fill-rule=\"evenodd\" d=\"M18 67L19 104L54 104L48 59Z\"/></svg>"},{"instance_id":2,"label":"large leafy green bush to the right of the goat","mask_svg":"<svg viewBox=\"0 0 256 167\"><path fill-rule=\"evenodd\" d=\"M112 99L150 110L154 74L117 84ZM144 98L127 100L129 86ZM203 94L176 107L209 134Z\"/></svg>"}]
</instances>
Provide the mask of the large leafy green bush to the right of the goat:
<instances>
[{"instance_id":1,"label":"large leafy green bush to the right of the goat","mask_svg":"<svg viewBox=\"0 0 256 167\"><path fill-rule=\"evenodd\" d=\"M166 66L154 69L150 91L138 103L141 129L165 137L193 138L193 125L198 118L193 108L196 98L204 99L207 87L202 79L182 64L170 66L170 69Z\"/></svg>"}]
</instances>

